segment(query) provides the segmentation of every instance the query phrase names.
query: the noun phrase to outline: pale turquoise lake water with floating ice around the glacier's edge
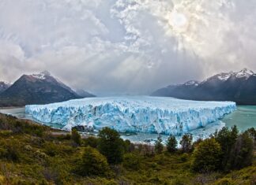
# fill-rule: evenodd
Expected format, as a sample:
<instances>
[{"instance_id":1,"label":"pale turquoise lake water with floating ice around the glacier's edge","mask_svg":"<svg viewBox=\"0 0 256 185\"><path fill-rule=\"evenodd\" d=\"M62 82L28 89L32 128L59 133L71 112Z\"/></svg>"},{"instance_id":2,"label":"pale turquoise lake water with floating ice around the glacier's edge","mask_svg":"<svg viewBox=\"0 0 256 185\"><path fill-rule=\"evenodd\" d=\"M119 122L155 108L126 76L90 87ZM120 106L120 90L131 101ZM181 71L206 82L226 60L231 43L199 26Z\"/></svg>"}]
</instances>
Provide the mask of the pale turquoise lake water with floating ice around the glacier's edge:
<instances>
[{"instance_id":1,"label":"pale turquoise lake water with floating ice around the glacier's edge","mask_svg":"<svg viewBox=\"0 0 256 185\"><path fill-rule=\"evenodd\" d=\"M25 114L24 108L0 109L0 113L11 114L21 119L32 120L31 116ZM235 112L228 114L220 121L207 125L205 128L198 128L191 131L191 134L194 135L194 139L198 139L199 137L206 138L209 136L209 133L213 133L216 129L220 129L223 126L231 128L234 125L239 128L239 131L245 131L248 128L256 127L256 106L237 106ZM61 128L58 124L47 124L47 126ZM157 136L158 135L156 134L137 133L137 135L122 135L122 138L130 139L132 142L152 143L156 140ZM168 135L162 135L162 139L165 141L168 139ZM177 137L177 139L179 140L180 137Z\"/></svg>"}]
</instances>

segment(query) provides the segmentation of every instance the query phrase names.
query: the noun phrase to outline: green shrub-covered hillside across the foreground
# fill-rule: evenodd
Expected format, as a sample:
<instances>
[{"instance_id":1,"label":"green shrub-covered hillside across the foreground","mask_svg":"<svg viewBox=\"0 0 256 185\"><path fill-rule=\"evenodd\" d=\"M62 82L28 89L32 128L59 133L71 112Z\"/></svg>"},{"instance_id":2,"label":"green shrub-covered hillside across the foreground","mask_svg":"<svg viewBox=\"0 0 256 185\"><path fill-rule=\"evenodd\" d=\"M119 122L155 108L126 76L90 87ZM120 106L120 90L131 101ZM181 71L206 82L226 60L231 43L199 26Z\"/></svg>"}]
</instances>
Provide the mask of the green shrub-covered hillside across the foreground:
<instances>
[{"instance_id":1,"label":"green shrub-covered hillside across the foreground","mask_svg":"<svg viewBox=\"0 0 256 185\"><path fill-rule=\"evenodd\" d=\"M110 140L107 135L111 135ZM202 174L191 167L200 165L194 164L197 155L193 149L173 148L170 153L162 151L160 145L156 145L157 150L152 146L134 146L119 139L111 129L100 133L100 138L80 139L76 131L72 135L58 135L51 128L1 114L0 184L256 183L255 156L248 167L224 172L212 164L208 165L211 170ZM109 141L111 150L107 149ZM218 144L216 149L220 150Z\"/></svg>"}]
</instances>

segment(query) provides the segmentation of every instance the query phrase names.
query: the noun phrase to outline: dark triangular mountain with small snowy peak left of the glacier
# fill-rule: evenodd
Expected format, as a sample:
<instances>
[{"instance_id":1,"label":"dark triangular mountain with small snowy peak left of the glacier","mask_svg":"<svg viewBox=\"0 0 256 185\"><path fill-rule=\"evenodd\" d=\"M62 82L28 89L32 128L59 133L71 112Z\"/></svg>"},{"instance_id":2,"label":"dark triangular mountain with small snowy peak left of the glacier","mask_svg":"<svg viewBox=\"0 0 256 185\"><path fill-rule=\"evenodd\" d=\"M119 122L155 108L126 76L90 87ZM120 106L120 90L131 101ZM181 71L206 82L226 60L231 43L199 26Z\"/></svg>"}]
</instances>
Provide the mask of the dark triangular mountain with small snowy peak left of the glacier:
<instances>
[{"instance_id":1,"label":"dark triangular mountain with small snowy peak left of the glacier","mask_svg":"<svg viewBox=\"0 0 256 185\"><path fill-rule=\"evenodd\" d=\"M47 104L82 98L49 72L23 75L0 94L0 106Z\"/></svg>"}]
</instances>

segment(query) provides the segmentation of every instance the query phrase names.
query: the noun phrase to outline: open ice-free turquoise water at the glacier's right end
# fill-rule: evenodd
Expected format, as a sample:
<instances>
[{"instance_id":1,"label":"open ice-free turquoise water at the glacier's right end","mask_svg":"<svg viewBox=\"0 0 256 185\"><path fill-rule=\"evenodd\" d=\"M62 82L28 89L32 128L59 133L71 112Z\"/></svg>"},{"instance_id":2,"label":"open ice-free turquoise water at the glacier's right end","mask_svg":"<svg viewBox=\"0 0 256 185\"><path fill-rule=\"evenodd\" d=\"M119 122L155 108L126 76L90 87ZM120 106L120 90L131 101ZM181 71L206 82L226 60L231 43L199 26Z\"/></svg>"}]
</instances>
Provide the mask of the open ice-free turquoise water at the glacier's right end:
<instances>
[{"instance_id":1,"label":"open ice-free turquoise water at the glacier's right end","mask_svg":"<svg viewBox=\"0 0 256 185\"><path fill-rule=\"evenodd\" d=\"M239 131L256 127L256 106L238 106L234 113L228 114L222 121L227 127L236 125Z\"/></svg>"}]
</instances>

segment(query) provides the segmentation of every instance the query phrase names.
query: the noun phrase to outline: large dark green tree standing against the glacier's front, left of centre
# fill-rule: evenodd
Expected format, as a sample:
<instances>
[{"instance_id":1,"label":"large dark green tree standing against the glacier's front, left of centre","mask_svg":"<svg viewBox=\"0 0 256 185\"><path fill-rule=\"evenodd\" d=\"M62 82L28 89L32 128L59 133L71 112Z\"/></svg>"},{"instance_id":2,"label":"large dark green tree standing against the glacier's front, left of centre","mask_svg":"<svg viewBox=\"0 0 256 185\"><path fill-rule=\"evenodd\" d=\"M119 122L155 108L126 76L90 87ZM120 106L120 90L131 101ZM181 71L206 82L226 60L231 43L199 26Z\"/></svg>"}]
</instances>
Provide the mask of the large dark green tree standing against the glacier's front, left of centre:
<instances>
[{"instance_id":1,"label":"large dark green tree standing against the glacier's front, left of centre","mask_svg":"<svg viewBox=\"0 0 256 185\"><path fill-rule=\"evenodd\" d=\"M111 128L103 128L99 133L98 149L107 157L108 163L119 164L122 162L124 143L119 132Z\"/></svg>"}]
</instances>

